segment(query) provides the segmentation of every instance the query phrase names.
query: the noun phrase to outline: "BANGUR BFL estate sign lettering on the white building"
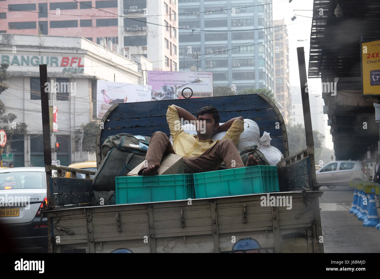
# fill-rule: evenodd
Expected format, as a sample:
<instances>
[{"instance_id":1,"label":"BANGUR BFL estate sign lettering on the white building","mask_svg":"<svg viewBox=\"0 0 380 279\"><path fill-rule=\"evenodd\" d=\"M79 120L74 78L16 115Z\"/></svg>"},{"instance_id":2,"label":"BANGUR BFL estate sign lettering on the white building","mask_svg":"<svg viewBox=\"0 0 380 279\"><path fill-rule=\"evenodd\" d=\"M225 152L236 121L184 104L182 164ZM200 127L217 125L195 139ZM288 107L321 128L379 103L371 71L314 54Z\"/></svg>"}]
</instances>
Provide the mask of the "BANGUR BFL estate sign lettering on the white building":
<instances>
[{"instance_id":1,"label":"BANGUR BFL estate sign lettering on the white building","mask_svg":"<svg viewBox=\"0 0 380 279\"><path fill-rule=\"evenodd\" d=\"M1 63L9 66L38 66L46 64L51 67L64 67L63 73L83 73L83 57L36 56L36 55L1 55Z\"/></svg>"}]
</instances>

